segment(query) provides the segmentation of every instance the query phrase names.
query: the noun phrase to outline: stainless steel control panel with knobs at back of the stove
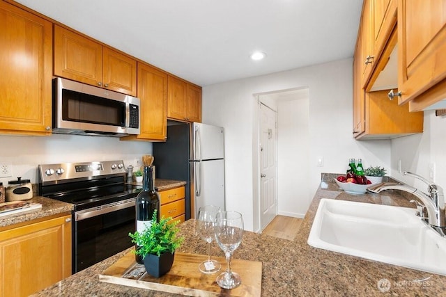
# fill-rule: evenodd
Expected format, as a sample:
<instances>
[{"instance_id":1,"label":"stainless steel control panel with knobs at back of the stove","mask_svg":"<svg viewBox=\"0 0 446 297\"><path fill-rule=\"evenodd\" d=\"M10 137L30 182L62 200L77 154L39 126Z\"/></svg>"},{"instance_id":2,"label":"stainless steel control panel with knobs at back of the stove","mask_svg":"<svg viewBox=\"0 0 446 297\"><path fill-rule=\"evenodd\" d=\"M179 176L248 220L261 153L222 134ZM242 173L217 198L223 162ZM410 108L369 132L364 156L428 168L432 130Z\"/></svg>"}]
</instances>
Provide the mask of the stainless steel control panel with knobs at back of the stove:
<instances>
[{"instance_id":1,"label":"stainless steel control panel with knobs at back of the stove","mask_svg":"<svg viewBox=\"0 0 446 297\"><path fill-rule=\"evenodd\" d=\"M89 179L101 175L125 174L124 162L94 161L39 165L40 182L58 182L67 179Z\"/></svg>"}]
</instances>

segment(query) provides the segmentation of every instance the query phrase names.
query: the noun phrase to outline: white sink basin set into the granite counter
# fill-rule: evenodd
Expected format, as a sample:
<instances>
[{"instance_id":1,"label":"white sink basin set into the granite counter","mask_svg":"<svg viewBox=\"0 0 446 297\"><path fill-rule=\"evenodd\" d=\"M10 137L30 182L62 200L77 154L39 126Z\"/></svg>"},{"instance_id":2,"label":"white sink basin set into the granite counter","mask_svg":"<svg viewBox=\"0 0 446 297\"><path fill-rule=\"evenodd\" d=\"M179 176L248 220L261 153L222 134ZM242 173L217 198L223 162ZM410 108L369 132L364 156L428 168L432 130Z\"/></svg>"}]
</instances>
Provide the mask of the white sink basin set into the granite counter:
<instances>
[{"instance_id":1,"label":"white sink basin set into the granite counter","mask_svg":"<svg viewBox=\"0 0 446 297\"><path fill-rule=\"evenodd\" d=\"M321 199L308 244L387 264L446 275L446 238L416 209Z\"/></svg>"}]
</instances>

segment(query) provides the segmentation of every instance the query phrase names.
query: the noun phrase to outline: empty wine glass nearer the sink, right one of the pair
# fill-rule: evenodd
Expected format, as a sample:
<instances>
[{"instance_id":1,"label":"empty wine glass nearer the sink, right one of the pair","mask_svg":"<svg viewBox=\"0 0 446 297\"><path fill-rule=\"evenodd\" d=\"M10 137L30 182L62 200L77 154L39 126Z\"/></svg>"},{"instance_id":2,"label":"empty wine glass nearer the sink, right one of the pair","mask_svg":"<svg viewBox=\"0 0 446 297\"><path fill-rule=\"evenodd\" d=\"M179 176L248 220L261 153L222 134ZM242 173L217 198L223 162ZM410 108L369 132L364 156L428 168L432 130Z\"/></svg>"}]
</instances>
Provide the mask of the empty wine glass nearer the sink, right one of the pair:
<instances>
[{"instance_id":1,"label":"empty wine glass nearer the sink, right one of the pair","mask_svg":"<svg viewBox=\"0 0 446 297\"><path fill-rule=\"evenodd\" d=\"M226 271L217 276L217 284L224 289L237 287L242 280L231 271L232 252L238 248L243 236L243 218L237 211L220 211L215 220L215 239L224 251Z\"/></svg>"}]
</instances>

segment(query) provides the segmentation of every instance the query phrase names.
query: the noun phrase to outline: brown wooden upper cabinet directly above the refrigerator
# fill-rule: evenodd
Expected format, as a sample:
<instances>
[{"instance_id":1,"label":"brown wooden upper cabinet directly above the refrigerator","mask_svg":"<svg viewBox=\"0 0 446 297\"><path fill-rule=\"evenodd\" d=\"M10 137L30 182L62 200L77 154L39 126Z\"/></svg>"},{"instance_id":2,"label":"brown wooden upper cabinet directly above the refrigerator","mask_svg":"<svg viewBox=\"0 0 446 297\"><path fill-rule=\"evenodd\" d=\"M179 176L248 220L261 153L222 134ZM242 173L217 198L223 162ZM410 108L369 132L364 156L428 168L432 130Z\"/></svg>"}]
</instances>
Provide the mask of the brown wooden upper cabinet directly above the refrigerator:
<instances>
[{"instance_id":1,"label":"brown wooden upper cabinet directly above the refrigerator","mask_svg":"<svg viewBox=\"0 0 446 297\"><path fill-rule=\"evenodd\" d=\"M168 76L167 118L201 122L201 88Z\"/></svg>"}]
</instances>

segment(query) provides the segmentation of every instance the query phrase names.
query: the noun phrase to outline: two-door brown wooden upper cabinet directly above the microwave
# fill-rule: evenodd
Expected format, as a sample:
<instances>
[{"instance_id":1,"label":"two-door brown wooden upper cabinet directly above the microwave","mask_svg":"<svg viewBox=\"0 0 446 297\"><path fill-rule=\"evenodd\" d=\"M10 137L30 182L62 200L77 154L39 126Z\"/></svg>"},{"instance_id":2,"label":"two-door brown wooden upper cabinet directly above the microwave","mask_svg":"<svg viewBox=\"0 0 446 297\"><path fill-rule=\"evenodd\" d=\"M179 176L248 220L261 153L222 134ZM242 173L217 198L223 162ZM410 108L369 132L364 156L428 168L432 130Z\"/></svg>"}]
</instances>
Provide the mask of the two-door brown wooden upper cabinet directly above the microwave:
<instances>
[{"instance_id":1,"label":"two-door brown wooden upper cabinet directly above the microwave","mask_svg":"<svg viewBox=\"0 0 446 297\"><path fill-rule=\"evenodd\" d=\"M137 96L137 61L54 25L54 75Z\"/></svg>"}]
</instances>

